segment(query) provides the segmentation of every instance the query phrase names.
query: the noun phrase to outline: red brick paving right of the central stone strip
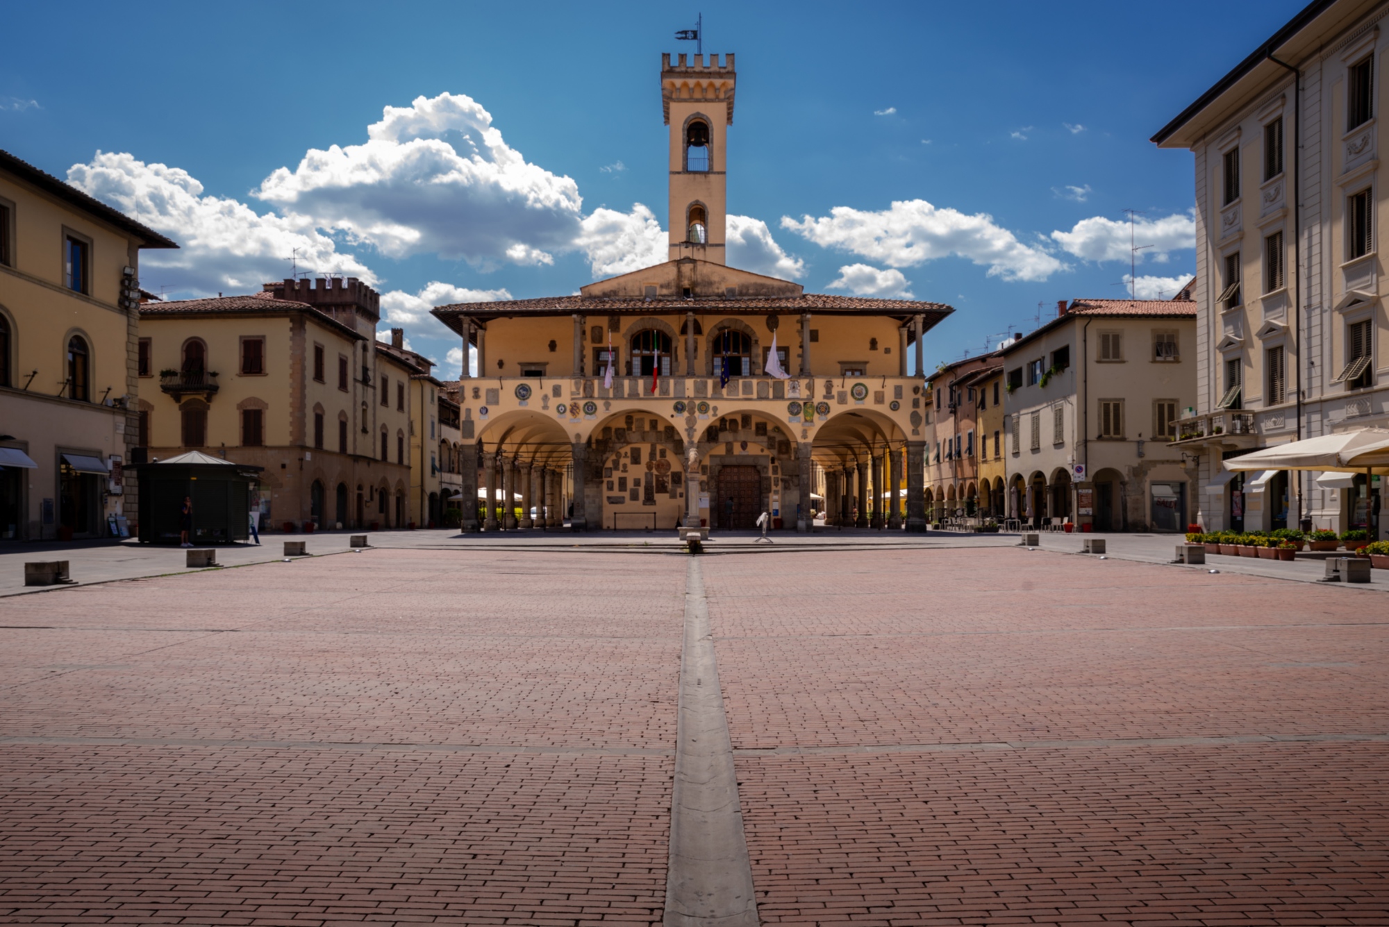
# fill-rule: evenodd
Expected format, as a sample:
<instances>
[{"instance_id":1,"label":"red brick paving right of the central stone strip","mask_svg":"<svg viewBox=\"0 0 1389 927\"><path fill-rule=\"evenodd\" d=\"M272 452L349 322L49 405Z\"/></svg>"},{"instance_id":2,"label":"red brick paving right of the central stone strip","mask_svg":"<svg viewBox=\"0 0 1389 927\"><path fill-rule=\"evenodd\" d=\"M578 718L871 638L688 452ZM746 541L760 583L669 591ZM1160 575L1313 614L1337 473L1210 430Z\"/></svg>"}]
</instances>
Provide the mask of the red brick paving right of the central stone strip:
<instances>
[{"instance_id":1,"label":"red brick paving right of the central stone strip","mask_svg":"<svg viewBox=\"0 0 1389 927\"><path fill-rule=\"evenodd\" d=\"M1376 594L1026 551L786 559L706 565L735 748L806 751L736 758L763 923L1389 923ZM1183 737L1213 742L1124 742Z\"/></svg>"}]
</instances>

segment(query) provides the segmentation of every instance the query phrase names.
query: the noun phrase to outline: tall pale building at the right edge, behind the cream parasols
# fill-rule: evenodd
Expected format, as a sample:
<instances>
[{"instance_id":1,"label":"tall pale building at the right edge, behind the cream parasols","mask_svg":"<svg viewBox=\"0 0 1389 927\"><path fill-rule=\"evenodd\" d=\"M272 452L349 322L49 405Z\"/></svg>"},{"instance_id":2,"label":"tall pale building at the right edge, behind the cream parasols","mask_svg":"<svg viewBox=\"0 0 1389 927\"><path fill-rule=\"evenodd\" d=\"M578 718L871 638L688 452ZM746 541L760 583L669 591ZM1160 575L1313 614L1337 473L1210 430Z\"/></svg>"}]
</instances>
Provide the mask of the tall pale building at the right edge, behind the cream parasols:
<instances>
[{"instance_id":1,"label":"tall pale building at the right edge, behind the cream parasols","mask_svg":"<svg viewBox=\"0 0 1389 927\"><path fill-rule=\"evenodd\" d=\"M1195 154L1200 365L1176 450L1199 462L1208 530L1340 531L1379 504L1379 476L1222 462L1389 426L1386 15L1310 4L1153 137Z\"/></svg>"}]
</instances>

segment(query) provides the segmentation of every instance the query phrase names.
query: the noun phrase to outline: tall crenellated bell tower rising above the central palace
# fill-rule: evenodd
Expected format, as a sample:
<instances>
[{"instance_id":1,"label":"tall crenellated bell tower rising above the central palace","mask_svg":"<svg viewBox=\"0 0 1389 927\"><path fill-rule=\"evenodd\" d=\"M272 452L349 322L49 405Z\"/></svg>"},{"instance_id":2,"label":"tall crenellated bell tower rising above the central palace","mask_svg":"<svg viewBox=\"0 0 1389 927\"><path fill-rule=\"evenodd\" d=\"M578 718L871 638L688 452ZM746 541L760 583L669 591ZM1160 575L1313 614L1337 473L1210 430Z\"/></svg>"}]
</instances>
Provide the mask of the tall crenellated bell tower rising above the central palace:
<instances>
[{"instance_id":1,"label":"tall crenellated bell tower rising above the central palace","mask_svg":"<svg viewBox=\"0 0 1389 927\"><path fill-rule=\"evenodd\" d=\"M692 61L686 61L692 58ZM728 264L726 136L733 125L733 56L661 56L661 107L671 137L669 260Z\"/></svg>"}]
</instances>

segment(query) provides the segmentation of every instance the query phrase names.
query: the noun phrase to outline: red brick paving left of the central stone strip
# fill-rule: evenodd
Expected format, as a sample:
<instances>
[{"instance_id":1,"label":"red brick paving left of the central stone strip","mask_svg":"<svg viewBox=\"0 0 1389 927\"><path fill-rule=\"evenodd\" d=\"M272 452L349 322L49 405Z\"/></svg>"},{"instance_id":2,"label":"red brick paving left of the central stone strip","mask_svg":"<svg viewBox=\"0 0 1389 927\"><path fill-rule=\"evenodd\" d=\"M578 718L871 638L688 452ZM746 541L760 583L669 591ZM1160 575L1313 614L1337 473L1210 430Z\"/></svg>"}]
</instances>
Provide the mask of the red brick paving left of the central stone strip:
<instances>
[{"instance_id":1,"label":"red brick paving left of the central stone strip","mask_svg":"<svg viewBox=\"0 0 1389 927\"><path fill-rule=\"evenodd\" d=\"M372 551L8 599L0 920L658 923L683 593Z\"/></svg>"}]
</instances>

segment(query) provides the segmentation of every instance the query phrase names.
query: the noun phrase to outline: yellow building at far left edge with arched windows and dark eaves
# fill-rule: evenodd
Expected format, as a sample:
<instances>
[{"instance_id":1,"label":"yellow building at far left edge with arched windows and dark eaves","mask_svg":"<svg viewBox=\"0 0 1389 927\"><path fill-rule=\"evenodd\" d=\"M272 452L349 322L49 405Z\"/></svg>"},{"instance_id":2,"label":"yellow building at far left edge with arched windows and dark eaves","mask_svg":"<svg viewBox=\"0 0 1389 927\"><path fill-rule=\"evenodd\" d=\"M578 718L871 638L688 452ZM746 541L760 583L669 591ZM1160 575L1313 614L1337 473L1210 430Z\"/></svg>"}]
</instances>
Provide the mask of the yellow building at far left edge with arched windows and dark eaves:
<instances>
[{"instance_id":1,"label":"yellow building at far left edge with arched windows and dark eaves","mask_svg":"<svg viewBox=\"0 0 1389 927\"><path fill-rule=\"evenodd\" d=\"M0 540L133 534L139 257L174 247L0 151Z\"/></svg>"}]
</instances>

